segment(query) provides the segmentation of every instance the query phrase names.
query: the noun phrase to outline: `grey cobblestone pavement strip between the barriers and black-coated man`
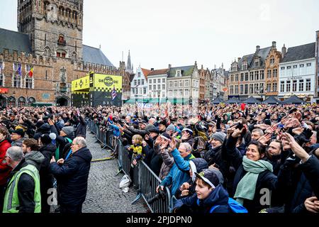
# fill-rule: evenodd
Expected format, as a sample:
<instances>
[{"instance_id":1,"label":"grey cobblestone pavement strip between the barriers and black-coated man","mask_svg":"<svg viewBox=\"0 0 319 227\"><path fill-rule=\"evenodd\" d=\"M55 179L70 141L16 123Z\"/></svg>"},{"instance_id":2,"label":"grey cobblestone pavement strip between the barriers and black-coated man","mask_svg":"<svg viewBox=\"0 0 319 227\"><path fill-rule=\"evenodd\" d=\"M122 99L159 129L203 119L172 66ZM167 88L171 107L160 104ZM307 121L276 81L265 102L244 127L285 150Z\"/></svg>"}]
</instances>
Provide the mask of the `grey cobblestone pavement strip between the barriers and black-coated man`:
<instances>
[{"instance_id":1,"label":"grey cobblestone pavement strip between the barriers and black-coated man","mask_svg":"<svg viewBox=\"0 0 319 227\"><path fill-rule=\"evenodd\" d=\"M94 134L87 131L86 143L91 150L94 159L110 157L110 153L101 149L101 143L95 143ZM130 187L128 193L122 192L119 184L123 173L116 176L118 160L106 160L103 162L92 162L89 173L89 185L86 201L83 204L83 213L145 213L148 207L141 198L132 205L136 190Z\"/></svg>"}]
</instances>

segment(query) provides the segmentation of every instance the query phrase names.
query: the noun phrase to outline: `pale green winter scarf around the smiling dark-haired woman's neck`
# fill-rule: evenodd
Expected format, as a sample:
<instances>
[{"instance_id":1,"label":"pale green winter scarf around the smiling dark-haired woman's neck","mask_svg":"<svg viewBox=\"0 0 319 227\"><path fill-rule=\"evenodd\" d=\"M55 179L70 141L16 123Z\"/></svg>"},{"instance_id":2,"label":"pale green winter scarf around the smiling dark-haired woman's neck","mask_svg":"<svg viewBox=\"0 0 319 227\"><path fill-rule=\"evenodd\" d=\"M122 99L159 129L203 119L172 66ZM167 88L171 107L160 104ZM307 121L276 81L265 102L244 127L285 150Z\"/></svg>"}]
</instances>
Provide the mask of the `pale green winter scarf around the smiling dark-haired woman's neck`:
<instances>
[{"instance_id":1,"label":"pale green winter scarf around the smiling dark-haired woman's neck","mask_svg":"<svg viewBox=\"0 0 319 227\"><path fill-rule=\"evenodd\" d=\"M242 165L247 173L238 183L234 198L243 205L244 199L254 199L259 173L265 170L273 172L273 170L272 164L269 162L264 160L252 161L246 155L242 159Z\"/></svg>"}]
</instances>

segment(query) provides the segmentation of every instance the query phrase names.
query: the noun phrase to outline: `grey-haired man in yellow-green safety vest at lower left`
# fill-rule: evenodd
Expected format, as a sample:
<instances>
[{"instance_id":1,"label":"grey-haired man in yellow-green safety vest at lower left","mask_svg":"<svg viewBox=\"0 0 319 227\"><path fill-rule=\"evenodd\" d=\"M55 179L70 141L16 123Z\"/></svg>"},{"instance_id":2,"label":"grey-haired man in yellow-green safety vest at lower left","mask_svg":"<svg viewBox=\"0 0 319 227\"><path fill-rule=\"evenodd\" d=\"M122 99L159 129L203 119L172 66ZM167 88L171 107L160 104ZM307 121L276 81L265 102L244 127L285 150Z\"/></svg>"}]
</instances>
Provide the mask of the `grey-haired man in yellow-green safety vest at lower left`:
<instances>
[{"instance_id":1,"label":"grey-haired man in yellow-green safety vest at lower left","mask_svg":"<svg viewBox=\"0 0 319 227\"><path fill-rule=\"evenodd\" d=\"M3 213L40 213L40 177L37 168L26 162L21 147L9 148L5 160L13 170L6 184Z\"/></svg>"}]
</instances>

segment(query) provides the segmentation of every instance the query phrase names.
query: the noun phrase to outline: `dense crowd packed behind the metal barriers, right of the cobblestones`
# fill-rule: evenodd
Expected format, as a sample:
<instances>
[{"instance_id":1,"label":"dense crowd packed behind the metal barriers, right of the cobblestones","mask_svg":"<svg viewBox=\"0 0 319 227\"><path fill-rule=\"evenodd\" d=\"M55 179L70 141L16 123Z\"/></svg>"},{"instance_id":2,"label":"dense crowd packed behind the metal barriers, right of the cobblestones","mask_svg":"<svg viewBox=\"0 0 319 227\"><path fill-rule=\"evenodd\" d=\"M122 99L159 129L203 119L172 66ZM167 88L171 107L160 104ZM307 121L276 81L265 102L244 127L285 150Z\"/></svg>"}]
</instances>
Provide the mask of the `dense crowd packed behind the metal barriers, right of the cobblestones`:
<instances>
[{"instance_id":1,"label":"dense crowd packed behind the metal barriers, right of the cobblestones","mask_svg":"<svg viewBox=\"0 0 319 227\"><path fill-rule=\"evenodd\" d=\"M318 213L319 106L82 109L169 187L174 212ZM112 154L116 156L116 152ZM130 171L130 177L133 177Z\"/></svg>"}]
</instances>

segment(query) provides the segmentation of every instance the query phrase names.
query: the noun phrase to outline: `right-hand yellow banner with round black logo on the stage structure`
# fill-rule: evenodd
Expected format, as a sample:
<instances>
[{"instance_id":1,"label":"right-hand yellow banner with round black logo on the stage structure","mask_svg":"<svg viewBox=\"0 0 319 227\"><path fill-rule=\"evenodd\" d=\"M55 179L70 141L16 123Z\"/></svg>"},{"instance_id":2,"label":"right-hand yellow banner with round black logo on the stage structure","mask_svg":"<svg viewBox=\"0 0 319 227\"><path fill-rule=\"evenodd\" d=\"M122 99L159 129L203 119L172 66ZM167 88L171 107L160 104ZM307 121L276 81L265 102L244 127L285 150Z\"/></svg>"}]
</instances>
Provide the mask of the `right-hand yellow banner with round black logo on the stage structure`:
<instances>
[{"instance_id":1,"label":"right-hand yellow banner with round black logo on the stage structure","mask_svg":"<svg viewBox=\"0 0 319 227\"><path fill-rule=\"evenodd\" d=\"M116 92L122 92L122 77L94 74L94 91L96 92L112 92L115 87Z\"/></svg>"}]
</instances>

